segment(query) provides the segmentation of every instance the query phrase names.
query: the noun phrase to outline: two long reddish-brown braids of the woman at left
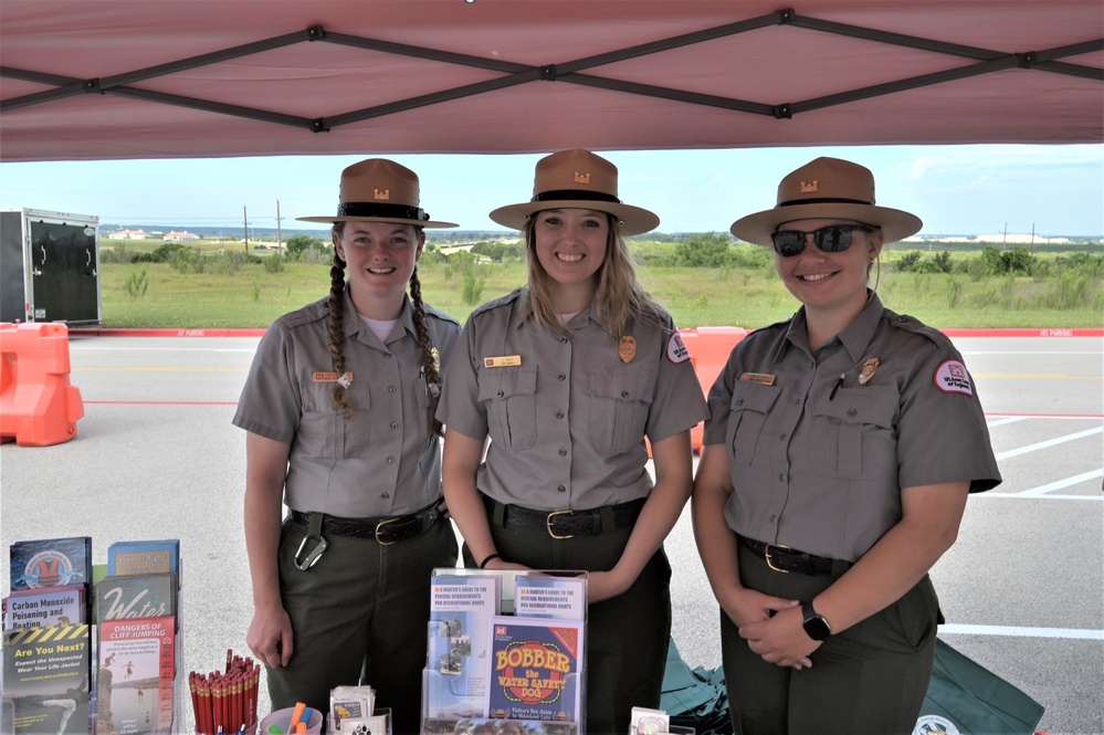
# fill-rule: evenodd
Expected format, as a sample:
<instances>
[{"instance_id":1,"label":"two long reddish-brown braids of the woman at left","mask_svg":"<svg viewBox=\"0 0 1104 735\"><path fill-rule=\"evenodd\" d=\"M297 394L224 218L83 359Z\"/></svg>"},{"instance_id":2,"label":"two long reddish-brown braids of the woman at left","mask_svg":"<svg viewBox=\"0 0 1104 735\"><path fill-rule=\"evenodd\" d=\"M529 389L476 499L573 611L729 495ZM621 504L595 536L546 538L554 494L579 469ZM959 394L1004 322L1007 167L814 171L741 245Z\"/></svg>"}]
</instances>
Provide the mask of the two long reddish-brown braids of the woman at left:
<instances>
[{"instance_id":1,"label":"two long reddish-brown braids of the woman at left","mask_svg":"<svg viewBox=\"0 0 1104 735\"><path fill-rule=\"evenodd\" d=\"M411 224L419 235L422 228ZM334 235L338 239L345 231L345 222L334 222ZM421 371L425 380L427 389L434 398L440 391L441 372L438 369L437 359L433 353L433 337L430 335L429 324L425 322L425 304L422 302L422 283L418 277L418 266L414 266L410 274L410 301L413 304L412 317L414 329L418 332L418 347L422 353ZM329 269L329 355L334 361L334 371L338 376L345 375L345 261L334 249L334 263ZM339 382L334 384L330 393L334 407L348 421L353 418L355 410L353 401L346 393L345 386ZM434 421L433 430L441 433L441 423Z\"/></svg>"}]
</instances>

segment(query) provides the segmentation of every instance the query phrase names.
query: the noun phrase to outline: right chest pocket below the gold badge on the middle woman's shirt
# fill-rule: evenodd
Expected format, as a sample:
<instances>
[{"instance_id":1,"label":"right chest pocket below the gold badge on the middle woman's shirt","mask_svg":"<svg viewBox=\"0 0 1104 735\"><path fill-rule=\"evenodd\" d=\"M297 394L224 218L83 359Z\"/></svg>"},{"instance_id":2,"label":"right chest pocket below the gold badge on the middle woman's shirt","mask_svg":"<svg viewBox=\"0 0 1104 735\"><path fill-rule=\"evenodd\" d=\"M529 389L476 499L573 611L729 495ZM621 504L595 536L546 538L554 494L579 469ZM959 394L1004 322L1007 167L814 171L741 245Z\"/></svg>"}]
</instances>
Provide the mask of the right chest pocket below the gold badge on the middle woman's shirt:
<instances>
[{"instance_id":1,"label":"right chest pocket below the gold badge on the middle woman's shirt","mask_svg":"<svg viewBox=\"0 0 1104 735\"><path fill-rule=\"evenodd\" d=\"M588 374L590 438L599 451L621 454L643 441L658 375L655 368Z\"/></svg>"}]
</instances>

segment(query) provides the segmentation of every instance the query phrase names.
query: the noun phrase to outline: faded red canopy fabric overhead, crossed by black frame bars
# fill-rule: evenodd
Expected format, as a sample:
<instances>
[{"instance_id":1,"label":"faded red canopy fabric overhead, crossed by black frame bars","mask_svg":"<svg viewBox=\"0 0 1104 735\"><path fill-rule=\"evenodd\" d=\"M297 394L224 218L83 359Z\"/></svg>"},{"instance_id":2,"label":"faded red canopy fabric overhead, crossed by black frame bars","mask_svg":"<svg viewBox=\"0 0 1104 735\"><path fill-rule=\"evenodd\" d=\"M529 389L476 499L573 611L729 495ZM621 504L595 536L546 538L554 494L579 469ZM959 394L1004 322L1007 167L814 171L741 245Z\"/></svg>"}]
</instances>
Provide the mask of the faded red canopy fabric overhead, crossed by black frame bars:
<instances>
[{"instance_id":1,"label":"faded red canopy fabric overhead, crossed by black frame bars","mask_svg":"<svg viewBox=\"0 0 1104 735\"><path fill-rule=\"evenodd\" d=\"M0 159L1104 139L1100 0L3 0Z\"/></svg>"}]
</instances>

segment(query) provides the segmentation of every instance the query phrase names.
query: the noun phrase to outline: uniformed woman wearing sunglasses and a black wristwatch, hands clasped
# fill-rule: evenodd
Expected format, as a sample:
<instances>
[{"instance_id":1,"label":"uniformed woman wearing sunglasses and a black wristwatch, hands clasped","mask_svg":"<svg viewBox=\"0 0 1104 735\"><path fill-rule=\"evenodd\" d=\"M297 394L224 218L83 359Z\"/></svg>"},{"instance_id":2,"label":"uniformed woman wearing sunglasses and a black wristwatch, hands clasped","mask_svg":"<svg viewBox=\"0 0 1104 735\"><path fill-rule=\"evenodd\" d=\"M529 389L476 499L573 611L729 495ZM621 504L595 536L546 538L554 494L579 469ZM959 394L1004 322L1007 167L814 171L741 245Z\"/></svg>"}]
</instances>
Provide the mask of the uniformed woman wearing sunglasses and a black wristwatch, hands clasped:
<instances>
[{"instance_id":1,"label":"uniformed woman wearing sunglasses and a black wristwatch, hands clasped","mask_svg":"<svg viewBox=\"0 0 1104 735\"><path fill-rule=\"evenodd\" d=\"M733 350L694 483L737 733L916 724L942 622L928 569L967 495L1000 483L961 356L868 287L883 243L919 229L834 158L733 224L801 302Z\"/></svg>"}]
</instances>

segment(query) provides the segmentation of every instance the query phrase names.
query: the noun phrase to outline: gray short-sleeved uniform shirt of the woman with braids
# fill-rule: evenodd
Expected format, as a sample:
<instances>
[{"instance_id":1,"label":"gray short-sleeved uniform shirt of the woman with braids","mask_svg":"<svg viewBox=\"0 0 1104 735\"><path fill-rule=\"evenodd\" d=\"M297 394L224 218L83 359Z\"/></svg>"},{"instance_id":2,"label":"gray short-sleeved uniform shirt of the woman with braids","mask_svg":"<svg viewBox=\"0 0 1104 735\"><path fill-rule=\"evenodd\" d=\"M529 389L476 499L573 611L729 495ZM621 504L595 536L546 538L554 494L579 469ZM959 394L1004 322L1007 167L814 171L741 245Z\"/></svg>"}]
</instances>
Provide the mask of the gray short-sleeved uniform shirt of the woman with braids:
<instances>
[{"instance_id":1,"label":"gray short-sleeved uniform shirt of the woman with braids","mask_svg":"<svg viewBox=\"0 0 1104 735\"><path fill-rule=\"evenodd\" d=\"M441 496L441 451L432 432L435 400L421 378L421 350L409 300L385 342L345 292L345 367L353 418L334 407L327 300L285 314L261 339L234 426L291 444L284 502L345 517L403 515ZM460 323L425 307L442 367ZM385 344L386 343L386 344Z\"/></svg>"}]
</instances>

